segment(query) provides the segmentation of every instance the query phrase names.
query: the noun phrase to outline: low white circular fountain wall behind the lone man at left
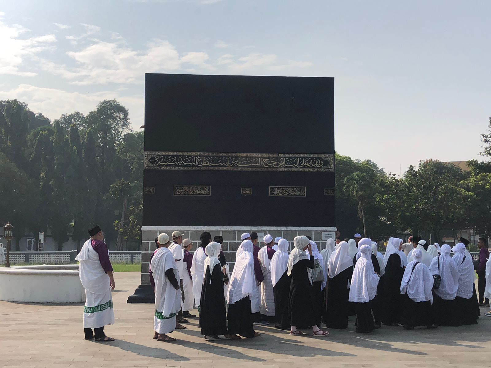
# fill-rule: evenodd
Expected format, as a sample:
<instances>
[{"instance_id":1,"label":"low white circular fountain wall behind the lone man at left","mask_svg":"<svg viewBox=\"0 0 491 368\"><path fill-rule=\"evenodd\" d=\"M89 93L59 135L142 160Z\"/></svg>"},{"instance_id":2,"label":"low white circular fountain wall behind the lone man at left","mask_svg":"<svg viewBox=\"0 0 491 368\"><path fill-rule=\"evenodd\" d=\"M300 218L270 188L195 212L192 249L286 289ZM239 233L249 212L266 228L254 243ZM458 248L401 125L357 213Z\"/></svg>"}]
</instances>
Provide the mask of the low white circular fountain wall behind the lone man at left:
<instances>
[{"instance_id":1,"label":"low white circular fountain wall behind the lone man at left","mask_svg":"<svg viewBox=\"0 0 491 368\"><path fill-rule=\"evenodd\" d=\"M85 289L78 264L0 267L0 300L28 303L82 303Z\"/></svg>"}]
</instances>

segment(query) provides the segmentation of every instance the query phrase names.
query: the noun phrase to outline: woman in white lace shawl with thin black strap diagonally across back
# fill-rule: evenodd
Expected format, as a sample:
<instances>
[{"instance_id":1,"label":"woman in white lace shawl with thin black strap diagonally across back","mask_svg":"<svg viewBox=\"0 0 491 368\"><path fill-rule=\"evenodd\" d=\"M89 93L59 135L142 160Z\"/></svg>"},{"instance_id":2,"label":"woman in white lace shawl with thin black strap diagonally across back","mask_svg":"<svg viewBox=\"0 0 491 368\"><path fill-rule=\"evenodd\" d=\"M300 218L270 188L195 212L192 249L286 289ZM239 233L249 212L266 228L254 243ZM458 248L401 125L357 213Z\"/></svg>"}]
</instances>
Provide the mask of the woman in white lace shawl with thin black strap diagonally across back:
<instances>
[{"instance_id":1,"label":"woman in white lace shawl with thin black strap diagonally across back","mask_svg":"<svg viewBox=\"0 0 491 368\"><path fill-rule=\"evenodd\" d=\"M422 252L412 252L414 261L408 263L401 282L403 294L402 323L406 330L416 326L436 328L433 323L433 276L426 264L421 263Z\"/></svg>"}]
</instances>

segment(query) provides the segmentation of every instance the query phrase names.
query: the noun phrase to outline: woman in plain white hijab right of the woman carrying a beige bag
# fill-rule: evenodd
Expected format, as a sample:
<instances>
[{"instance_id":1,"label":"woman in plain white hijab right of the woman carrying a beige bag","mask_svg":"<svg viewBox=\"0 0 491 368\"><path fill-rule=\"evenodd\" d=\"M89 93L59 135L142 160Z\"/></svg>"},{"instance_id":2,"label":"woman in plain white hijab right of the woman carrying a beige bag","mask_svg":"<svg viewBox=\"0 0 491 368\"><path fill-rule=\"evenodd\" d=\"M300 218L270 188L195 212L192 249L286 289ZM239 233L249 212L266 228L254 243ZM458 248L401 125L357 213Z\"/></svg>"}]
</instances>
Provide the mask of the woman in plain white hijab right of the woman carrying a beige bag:
<instances>
[{"instance_id":1,"label":"woman in plain white hijab right of the woman carrying a beige bag","mask_svg":"<svg viewBox=\"0 0 491 368\"><path fill-rule=\"evenodd\" d=\"M348 243L340 242L327 263L326 325L329 328L348 327L350 278L353 258L348 254Z\"/></svg>"}]
</instances>

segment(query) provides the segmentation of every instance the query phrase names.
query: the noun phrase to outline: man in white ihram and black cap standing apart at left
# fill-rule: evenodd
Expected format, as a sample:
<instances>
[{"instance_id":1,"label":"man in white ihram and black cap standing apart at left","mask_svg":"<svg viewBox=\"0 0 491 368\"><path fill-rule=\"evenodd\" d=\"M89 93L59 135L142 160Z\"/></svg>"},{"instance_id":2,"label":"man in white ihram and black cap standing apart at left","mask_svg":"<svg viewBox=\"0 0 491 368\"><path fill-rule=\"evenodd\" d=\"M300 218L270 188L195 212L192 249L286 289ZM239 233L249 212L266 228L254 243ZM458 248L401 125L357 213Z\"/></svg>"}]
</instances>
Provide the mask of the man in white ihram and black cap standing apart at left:
<instances>
[{"instance_id":1,"label":"man in white ihram and black cap standing apart at left","mask_svg":"<svg viewBox=\"0 0 491 368\"><path fill-rule=\"evenodd\" d=\"M75 258L80 262L80 281L85 288L83 330L85 340L95 338L98 342L110 342L114 339L104 334L104 326L114 323L111 296L111 289L114 289L113 269L109 261L108 247L103 241L104 233L99 225L90 229L89 235L90 239L83 244Z\"/></svg>"}]
</instances>

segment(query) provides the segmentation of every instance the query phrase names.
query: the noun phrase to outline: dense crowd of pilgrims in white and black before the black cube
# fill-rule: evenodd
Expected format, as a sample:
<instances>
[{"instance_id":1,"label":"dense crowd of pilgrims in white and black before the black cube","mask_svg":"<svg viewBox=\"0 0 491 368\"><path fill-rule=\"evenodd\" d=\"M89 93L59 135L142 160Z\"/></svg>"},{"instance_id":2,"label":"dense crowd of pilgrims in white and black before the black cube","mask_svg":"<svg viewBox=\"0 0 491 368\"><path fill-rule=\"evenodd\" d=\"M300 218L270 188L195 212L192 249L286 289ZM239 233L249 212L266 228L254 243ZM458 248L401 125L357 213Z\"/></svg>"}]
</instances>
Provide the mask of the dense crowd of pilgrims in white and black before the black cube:
<instances>
[{"instance_id":1,"label":"dense crowd of pilgrims in white and black before the black cube","mask_svg":"<svg viewBox=\"0 0 491 368\"><path fill-rule=\"evenodd\" d=\"M327 240L322 252L307 236L289 242L271 235L258 246L257 233L245 233L232 274L221 251L222 237L200 236L192 242L178 231L160 234L150 260L155 291L154 339L175 341L166 334L185 329L182 323L194 305L201 335L207 340L260 336L254 325L302 335L326 337L322 329L346 329L355 315L356 332L369 333L382 324L414 329L417 326L477 324L479 305L474 287L472 256L464 243L452 249L427 246L391 237L385 254L377 243L355 234L354 239ZM454 255L451 257L450 253ZM487 296L489 297L489 296Z\"/></svg>"}]
</instances>

